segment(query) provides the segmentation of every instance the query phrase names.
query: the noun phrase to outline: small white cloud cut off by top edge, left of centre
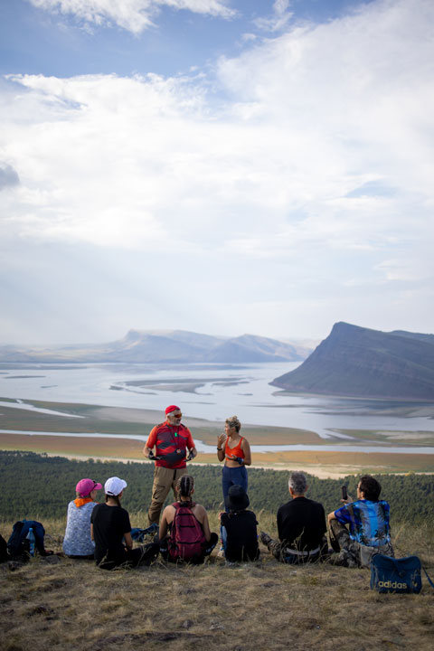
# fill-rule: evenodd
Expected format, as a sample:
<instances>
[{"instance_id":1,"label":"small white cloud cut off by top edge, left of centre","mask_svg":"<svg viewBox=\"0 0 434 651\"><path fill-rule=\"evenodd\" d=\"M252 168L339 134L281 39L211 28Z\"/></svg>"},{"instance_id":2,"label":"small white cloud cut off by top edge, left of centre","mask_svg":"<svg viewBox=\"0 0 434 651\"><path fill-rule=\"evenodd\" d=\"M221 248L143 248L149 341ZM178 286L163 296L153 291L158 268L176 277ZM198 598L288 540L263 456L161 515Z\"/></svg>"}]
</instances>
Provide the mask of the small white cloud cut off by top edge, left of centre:
<instances>
[{"instance_id":1,"label":"small white cloud cut off by top edge, left of centre","mask_svg":"<svg viewBox=\"0 0 434 651\"><path fill-rule=\"evenodd\" d=\"M72 14L85 24L117 24L135 34L152 26L153 18L164 6L222 18L231 18L236 14L225 0L29 0L29 2L40 9Z\"/></svg>"}]
</instances>

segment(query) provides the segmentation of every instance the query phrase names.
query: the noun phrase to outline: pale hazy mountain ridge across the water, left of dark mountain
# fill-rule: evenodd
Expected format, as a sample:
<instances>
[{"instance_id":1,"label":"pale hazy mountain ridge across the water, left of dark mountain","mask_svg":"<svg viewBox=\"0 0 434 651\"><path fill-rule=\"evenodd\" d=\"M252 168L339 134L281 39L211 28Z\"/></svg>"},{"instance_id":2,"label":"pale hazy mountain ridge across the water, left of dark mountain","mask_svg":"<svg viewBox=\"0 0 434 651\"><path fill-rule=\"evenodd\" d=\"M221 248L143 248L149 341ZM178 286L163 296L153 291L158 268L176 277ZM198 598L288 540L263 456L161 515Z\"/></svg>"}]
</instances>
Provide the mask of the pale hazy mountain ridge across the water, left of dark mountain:
<instances>
[{"instance_id":1,"label":"pale hazy mountain ridge across the water, left of dark mountain","mask_svg":"<svg viewBox=\"0 0 434 651\"><path fill-rule=\"evenodd\" d=\"M301 362L311 349L257 335L202 335L185 330L129 330L109 344L52 348L0 346L0 363Z\"/></svg>"}]
</instances>

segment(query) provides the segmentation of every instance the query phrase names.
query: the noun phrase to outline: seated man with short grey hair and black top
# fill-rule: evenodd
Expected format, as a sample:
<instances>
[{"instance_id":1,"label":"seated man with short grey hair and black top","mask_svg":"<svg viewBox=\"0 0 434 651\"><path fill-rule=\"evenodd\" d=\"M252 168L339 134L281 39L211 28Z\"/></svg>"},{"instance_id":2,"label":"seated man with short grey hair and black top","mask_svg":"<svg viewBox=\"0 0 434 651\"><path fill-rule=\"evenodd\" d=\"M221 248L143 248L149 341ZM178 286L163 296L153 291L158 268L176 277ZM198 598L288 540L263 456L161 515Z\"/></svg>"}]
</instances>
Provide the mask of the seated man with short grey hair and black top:
<instances>
[{"instance_id":1,"label":"seated man with short grey hair and black top","mask_svg":"<svg viewBox=\"0 0 434 651\"><path fill-rule=\"evenodd\" d=\"M327 553L324 506L307 499L307 479L292 472L288 481L291 498L278 509L278 540L260 532L260 542L278 561L315 562Z\"/></svg>"}]
</instances>

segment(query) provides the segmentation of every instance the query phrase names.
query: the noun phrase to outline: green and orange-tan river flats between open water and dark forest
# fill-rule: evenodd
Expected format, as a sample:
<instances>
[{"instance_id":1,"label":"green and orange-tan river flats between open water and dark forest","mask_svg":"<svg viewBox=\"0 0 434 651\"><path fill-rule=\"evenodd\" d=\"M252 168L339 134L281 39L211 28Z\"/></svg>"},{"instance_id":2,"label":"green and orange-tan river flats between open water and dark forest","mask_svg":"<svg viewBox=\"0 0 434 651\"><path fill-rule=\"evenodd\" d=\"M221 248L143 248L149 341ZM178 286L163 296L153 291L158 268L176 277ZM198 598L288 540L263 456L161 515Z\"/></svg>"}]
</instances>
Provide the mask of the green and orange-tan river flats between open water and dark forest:
<instances>
[{"instance_id":1,"label":"green and orange-tan river flats between open water and dark forest","mask_svg":"<svg viewBox=\"0 0 434 651\"><path fill-rule=\"evenodd\" d=\"M151 427L163 420L161 412L156 410L59 402L11 404L2 401L0 411L0 429L4 429L0 432L0 448L126 462L149 463L142 454L144 441ZM215 453L210 452L222 431L222 422L203 419L185 419L184 422L192 429L193 438L203 441L203 452L199 452L193 465L215 464ZM104 434L97 433L101 431ZM434 451L434 447L422 448L434 446L432 432L345 430L335 432L335 439L322 439L315 432L304 429L245 425L242 433L250 440L253 450L256 446L266 450L253 452L254 467L305 469L319 477L368 471L434 472L434 455L423 453L425 450ZM343 443L350 448L345 451L337 449ZM399 454L392 452L391 444L399 446ZM414 448L418 444L420 453ZM300 445L304 449L300 449ZM359 449L351 449L352 445ZM278 449L281 446L287 449ZM297 446L298 449L288 449L288 446ZM360 451L361 446L365 451ZM389 449L384 446L389 446ZM412 447L412 453L406 451L407 446Z\"/></svg>"}]
</instances>

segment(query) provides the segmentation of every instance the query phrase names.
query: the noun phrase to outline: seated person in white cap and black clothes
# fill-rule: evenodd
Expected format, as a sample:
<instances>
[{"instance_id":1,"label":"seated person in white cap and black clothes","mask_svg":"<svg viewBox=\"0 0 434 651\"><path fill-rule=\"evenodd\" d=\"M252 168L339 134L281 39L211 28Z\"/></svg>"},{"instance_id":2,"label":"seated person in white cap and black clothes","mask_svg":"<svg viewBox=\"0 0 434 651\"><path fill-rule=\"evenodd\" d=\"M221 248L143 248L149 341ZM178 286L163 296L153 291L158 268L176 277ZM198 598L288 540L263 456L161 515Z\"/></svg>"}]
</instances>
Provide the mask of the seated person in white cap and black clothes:
<instances>
[{"instance_id":1,"label":"seated person in white cap and black clothes","mask_svg":"<svg viewBox=\"0 0 434 651\"><path fill-rule=\"evenodd\" d=\"M96 505L91 515L90 534L95 541L95 561L104 570L128 565L149 565L156 559L159 546L150 542L133 549L128 512L120 505L127 482L110 477L105 485L106 503Z\"/></svg>"}]
</instances>

